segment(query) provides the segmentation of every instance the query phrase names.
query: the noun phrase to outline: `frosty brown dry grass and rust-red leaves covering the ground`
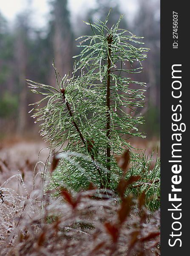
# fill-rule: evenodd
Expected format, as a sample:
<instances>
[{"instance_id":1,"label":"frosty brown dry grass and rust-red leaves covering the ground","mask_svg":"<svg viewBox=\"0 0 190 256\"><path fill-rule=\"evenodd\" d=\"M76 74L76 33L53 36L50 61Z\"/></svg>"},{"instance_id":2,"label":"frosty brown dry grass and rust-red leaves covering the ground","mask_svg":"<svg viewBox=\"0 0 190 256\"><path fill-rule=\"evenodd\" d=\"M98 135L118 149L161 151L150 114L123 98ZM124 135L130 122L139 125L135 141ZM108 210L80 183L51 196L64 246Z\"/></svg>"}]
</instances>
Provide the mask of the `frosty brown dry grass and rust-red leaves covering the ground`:
<instances>
[{"instance_id":1,"label":"frosty brown dry grass and rust-red leaves covering the ground","mask_svg":"<svg viewBox=\"0 0 190 256\"><path fill-rule=\"evenodd\" d=\"M138 201L122 193L118 198L92 185L79 193L62 189L54 198L43 192L40 175L34 176L33 191L43 147L17 142L0 150L0 256L159 255L159 211L148 212L144 195ZM47 156L42 151L40 160Z\"/></svg>"}]
</instances>

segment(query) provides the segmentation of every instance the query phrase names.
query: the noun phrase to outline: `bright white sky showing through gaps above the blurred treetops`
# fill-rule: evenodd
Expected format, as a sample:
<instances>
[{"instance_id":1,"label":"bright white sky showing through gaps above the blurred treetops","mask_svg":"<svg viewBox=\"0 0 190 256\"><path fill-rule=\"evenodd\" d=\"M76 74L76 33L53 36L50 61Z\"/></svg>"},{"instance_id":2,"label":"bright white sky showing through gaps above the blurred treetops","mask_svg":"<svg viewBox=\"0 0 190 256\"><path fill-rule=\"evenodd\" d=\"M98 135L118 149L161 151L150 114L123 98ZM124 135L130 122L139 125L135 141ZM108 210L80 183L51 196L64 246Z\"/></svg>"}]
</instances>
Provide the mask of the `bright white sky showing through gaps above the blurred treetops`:
<instances>
[{"instance_id":1,"label":"bright white sky showing through gaps above the blurred treetops","mask_svg":"<svg viewBox=\"0 0 190 256\"><path fill-rule=\"evenodd\" d=\"M118 0L118 2L120 12L125 14L127 20L132 21L138 9L138 0ZM82 17L88 9L94 7L95 3L95 0L68 0L71 19L75 19L76 16ZM50 11L48 0L0 0L0 12L10 22L13 22L16 15L26 9L31 10L32 23L35 27L43 28L47 25Z\"/></svg>"}]
</instances>

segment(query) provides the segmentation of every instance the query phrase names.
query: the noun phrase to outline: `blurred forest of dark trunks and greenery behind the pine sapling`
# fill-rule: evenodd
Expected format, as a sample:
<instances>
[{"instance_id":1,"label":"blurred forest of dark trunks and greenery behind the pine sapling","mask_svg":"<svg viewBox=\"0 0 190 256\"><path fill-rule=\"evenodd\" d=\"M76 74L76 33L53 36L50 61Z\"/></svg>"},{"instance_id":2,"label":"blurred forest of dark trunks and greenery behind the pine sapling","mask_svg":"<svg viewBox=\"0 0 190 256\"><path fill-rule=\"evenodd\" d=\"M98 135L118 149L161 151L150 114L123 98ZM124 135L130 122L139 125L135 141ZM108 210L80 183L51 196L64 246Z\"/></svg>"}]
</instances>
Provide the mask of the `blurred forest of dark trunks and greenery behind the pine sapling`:
<instances>
[{"instance_id":1,"label":"blurred forest of dark trunks and greenery behind the pine sapling","mask_svg":"<svg viewBox=\"0 0 190 256\"><path fill-rule=\"evenodd\" d=\"M75 38L91 34L82 20L105 20L110 7L109 25L126 14L121 26L135 35L145 36L145 47L150 48L144 71L136 75L137 81L147 82L146 102L142 114L145 125L142 131L148 139L159 138L160 122L160 6L159 0L135 0L135 10L128 1L94 0L80 9L71 8L70 0L46 0L49 13L45 26L34 26L38 16L26 0L24 10L17 14L14 23L7 20L0 8L0 139L3 137L36 137L38 125L28 111L28 104L40 96L31 93L25 79L55 85L54 59L64 76L72 70L79 53ZM3 2L3 1L0 1ZM84 2L84 1L83 1ZM131 2L131 1L130 1ZM134 7L134 5L133 5Z\"/></svg>"}]
</instances>

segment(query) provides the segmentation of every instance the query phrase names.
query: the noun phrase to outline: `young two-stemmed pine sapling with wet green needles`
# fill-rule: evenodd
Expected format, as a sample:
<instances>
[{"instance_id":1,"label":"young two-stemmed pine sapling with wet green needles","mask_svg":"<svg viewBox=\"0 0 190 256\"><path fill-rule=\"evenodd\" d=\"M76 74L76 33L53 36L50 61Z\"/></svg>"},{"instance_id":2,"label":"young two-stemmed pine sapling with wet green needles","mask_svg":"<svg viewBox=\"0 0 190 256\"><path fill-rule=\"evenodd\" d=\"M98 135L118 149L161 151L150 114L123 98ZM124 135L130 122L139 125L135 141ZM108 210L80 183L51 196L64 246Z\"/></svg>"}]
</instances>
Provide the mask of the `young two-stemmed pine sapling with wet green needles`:
<instances>
[{"instance_id":1,"label":"young two-stemmed pine sapling with wet green needles","mask_svg":"<svg viewBox=\"0 0 190 256\"><path fill-rule=\"evenodd\" d=\"M54 172L56 186L64 183L79 190L92 181L99 188L116 191L122 170L115 156L124 150L130 150L130 173L142 173L145 159L131 150L128 139L145 137L136 126L143 123L139 108L146 85L133 81L130 74L142 72L149 49L136 46L143 44L142 37L119 29L122 18L111 29L106 25L108 17L105 22L85 22L94 35L77 38L82 50L74 56L77 61L71 75L61 78L53 64L57 88L28 80L31 91L44 96L31 104L35 122L43 121L40 134L52 148L62 148L63 154L76 152L60 160ZM39 107L44 101L46 105Z\"/></svg>"}]
</instances>

